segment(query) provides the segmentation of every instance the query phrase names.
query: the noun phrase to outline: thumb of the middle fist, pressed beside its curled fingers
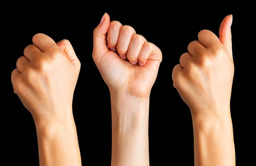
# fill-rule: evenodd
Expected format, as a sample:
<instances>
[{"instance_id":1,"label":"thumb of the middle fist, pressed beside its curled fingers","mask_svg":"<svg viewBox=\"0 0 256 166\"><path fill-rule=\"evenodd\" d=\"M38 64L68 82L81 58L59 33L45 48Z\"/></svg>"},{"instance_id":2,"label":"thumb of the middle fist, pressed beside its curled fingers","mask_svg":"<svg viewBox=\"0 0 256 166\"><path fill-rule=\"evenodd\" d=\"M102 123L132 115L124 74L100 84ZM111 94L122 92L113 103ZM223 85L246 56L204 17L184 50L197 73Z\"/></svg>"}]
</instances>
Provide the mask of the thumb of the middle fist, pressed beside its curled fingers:
<instances>
[{"instance_id":1,"label":"thumb of the middle fist, pressed beside its curled fingers","mask_svg":"<svg viewBox=\"0 0 256 166\"><path fill-rule=\"evenodd\" d=\"M93 59L100 59L109 50L106 44L106 34L110 24L107 13L102 16L99 25L93 31Z\"/></svg>"}]
</instances>

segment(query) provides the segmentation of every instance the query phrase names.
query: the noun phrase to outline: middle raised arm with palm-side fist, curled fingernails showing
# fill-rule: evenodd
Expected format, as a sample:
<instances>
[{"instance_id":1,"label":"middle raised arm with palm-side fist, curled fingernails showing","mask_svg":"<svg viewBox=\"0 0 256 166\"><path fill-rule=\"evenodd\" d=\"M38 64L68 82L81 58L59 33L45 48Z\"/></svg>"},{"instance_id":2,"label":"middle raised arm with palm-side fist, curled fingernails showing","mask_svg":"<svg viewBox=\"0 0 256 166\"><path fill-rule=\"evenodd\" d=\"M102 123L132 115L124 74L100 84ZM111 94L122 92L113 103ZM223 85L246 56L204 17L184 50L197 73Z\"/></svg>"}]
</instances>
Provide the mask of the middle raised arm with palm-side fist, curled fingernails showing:
<instances>
[{"instance_id":1,"label":"middle raised arm with palm-side fist, curled fingernails showing","mask_svg":"<svg viewBox=\"0 0 256 166\"><path fill-rule=\"evenodd\" d=\"M149 166L149 96L162 61L160 49L104 14L93 32L93 60L111 95L111 166Z\"/></svg>"}]
</instances>

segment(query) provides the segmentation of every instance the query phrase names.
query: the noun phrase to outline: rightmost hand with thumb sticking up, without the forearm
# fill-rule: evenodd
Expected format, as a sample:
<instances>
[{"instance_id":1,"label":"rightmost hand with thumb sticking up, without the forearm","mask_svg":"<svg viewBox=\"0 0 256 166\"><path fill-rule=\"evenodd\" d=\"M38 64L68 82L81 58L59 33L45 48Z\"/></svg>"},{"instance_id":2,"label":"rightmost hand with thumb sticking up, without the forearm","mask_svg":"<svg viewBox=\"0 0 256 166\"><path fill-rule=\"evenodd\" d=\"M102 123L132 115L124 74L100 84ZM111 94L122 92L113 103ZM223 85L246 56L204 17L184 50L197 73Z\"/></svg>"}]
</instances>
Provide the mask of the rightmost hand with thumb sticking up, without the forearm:
<instances>
[{"instance_id":1,"label":"rightmost hand with thumb sticking up, without the forearm","mask_svg":"<svg viewBox=\"0 0 256 166\"><path fill-rule=\"evenodd\" d=\"M173 69L173 85L192 115L221 115L230 110L234 75L231 42L232 15L224 18L218 38L203 30Z\"/></svg>"}]
</instances>

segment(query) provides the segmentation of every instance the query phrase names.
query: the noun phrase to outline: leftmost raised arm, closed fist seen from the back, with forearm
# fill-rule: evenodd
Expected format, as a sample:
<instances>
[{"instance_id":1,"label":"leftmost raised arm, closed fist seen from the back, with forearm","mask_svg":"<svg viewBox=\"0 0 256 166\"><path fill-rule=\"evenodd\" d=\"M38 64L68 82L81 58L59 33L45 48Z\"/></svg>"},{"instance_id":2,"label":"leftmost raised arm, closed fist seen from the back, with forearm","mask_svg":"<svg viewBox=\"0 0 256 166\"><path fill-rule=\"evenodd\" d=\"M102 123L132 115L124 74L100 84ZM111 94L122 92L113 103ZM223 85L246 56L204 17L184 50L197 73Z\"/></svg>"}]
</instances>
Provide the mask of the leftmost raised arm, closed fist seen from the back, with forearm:
<instances>
[{"instance_id":1,"label":"leftmost raised arm, closed fist seen from the back, with forearm","mask_svg":"<svg viewBox=\"0 0 256 166\"><path fill-rule=\"evenodd\" d=\"M80 62L68 40L36 34L12 72L14 92L32 114L40 166L81 166L72 113Z\"/></svg>"}]
</instances>

